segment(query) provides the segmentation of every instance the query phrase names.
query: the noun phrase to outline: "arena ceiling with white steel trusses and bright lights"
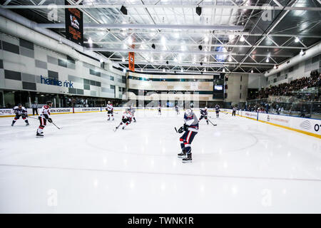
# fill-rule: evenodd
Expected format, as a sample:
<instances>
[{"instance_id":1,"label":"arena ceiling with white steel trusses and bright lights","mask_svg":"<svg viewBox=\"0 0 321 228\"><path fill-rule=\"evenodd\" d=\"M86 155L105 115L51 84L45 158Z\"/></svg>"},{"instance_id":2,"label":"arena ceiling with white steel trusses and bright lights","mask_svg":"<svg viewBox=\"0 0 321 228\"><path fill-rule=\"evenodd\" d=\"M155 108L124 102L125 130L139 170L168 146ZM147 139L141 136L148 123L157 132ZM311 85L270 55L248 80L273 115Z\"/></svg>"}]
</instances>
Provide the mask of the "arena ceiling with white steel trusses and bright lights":
<instances>
[{"instance_id":1,"label":"arena ceiling with white steel trusses and bright lights","mask_svg":"<svg viewBox=\"0 0 321 228\"><path fill-rule=\"evenodd\" d=\"M321 0L67 1L83 11L86 48L126 69L133 51L138 72L263 73L321 40ZM49 4L58 9L54 23ZM64 0L1 7L64 33Z\"/></svg>"}]
</instances>

